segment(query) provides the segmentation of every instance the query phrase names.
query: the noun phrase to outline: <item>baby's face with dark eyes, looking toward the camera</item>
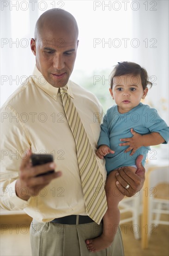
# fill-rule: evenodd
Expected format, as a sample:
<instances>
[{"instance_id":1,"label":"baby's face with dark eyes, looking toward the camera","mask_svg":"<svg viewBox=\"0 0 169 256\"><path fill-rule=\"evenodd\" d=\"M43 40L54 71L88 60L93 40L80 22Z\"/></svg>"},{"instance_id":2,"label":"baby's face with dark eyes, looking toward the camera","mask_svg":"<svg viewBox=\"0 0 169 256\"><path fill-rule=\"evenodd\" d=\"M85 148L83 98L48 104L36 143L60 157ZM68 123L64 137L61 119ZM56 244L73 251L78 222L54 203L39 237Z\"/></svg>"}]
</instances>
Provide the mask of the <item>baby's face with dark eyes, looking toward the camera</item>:
<instances>
[{"instance_id":1,"label":"baby's face with dark eyes, looking toward the camera","mask_svg":"<svg viewBox=\"0 0 169 256\"><path fill-rule=\"evenodd\" d=\"M144 99L148 88L143 90L140 75L121 75L113 78L113 89L110 93L118 105L119 113L126 113L138 106Z\"/></svg>"}]
</instances>

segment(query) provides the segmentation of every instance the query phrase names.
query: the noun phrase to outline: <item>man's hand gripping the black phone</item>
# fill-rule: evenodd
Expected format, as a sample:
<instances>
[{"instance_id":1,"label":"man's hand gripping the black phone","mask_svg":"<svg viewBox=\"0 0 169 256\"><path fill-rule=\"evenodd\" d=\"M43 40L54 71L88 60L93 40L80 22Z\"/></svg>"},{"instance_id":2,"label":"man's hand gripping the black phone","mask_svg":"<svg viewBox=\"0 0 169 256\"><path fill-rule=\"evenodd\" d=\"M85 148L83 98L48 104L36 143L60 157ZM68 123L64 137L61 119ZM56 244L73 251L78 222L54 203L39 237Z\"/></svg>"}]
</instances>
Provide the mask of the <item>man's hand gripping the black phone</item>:
<instances>
[{"instance_id":1,"label":"man's hand gripping the black phone","mask_svg":"<svg viewBox=\"0 0 169 256\"><path fill-rule=\"evenodd\" d=\"M53 174L38 176L47 171L53 170L56 165L54 162L43 165L32 166L30 162L31 150L28 156L21 162L19 179L15 184L16 194L23 200L28 200L31 196L38 195L38 192L47 186L53 179L62 175L60 171Z\"/></svg>"}]
</instances>

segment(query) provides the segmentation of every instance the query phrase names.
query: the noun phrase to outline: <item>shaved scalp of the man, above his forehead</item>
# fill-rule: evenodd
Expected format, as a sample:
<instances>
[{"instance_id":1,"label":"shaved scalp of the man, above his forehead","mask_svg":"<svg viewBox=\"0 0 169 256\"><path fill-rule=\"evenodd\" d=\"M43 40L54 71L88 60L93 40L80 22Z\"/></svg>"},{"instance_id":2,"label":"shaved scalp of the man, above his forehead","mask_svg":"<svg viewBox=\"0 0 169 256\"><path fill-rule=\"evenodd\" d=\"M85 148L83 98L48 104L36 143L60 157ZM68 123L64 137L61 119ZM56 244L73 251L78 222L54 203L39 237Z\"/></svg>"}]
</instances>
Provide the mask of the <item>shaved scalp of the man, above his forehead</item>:
<instances>
[{"instance_id":1,"label":"shaved scalp of the man, above his forehead","mask_svg":"<svg viewBox=\"0 0 169 256\"><path fill-rule=\"evenodd\" d=\"M50 9L44 12L38 19L35 26L35 38L43 38L44 31L52 31L57 34L58 31L72 33L77 40L78 27L74 16L62 9Z\"/></svg>"}]
</instances>

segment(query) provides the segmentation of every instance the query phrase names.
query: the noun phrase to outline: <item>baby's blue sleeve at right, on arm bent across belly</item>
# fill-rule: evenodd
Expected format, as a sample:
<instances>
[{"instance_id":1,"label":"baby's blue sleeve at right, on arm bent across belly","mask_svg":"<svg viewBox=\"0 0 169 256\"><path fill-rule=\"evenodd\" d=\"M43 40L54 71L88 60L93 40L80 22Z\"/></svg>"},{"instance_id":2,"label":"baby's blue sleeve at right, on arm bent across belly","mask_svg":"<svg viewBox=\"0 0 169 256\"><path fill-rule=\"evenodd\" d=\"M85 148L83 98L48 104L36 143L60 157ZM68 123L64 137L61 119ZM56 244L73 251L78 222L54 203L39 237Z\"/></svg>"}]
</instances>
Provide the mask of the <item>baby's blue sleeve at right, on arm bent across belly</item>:
<instances>
[{"instance_id":1,"label":"baby's blue sleeve at right, on arm bent across belly","mask_svg":"<svg viewBox=\"0 0 169 256\"><path fill-rule=\"evenodd\" d=\"M169 141L169 126L167 123L158 115L155 108L150 108L148 105L144 108L143 112L143 125L148 128L149 131L159 133L165 140L163 144Z\"/></svg>"}]
</instances>

